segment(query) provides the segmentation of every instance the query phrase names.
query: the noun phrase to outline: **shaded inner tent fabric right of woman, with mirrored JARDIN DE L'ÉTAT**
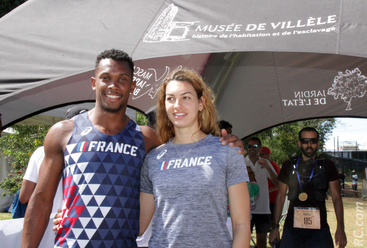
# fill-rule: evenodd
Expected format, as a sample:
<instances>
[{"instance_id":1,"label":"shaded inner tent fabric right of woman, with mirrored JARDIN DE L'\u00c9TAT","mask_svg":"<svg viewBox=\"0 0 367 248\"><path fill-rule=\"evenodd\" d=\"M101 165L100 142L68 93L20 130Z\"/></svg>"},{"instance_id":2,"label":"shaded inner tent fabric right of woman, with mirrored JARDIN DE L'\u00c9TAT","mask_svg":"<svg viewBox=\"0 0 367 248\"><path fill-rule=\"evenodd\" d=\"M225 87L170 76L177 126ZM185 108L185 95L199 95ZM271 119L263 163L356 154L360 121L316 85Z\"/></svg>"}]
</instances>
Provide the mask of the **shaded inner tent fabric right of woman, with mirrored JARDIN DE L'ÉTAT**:
<instances>
[{"instance_id":1,"label":"shaded inner tent fabric right of woman, with mirrored JARDIN DE L'\u00c9TAT","mask_svg":"<svg viewBox=\"0 0 367 248\"><path fill-rule=\"evenodd\" d=\"M270 61L273 54L273 64ZM313 53L248 52L218 102L221 119L239 137L284 122L323 116L367 117L366 96L348 103L328 94L339 72L358 68L367 77L367 59ZM356 67L358 66L358 67ZM279 87L279 91L276 88ZM366 90L360 89L360 91ZM361 88L361 86L360 86ZM247 121L248 120L248 121Z\"/></svg>"}]
</instances>

